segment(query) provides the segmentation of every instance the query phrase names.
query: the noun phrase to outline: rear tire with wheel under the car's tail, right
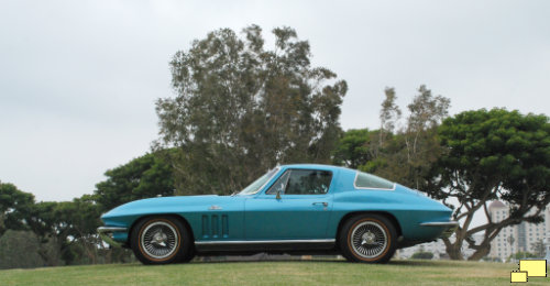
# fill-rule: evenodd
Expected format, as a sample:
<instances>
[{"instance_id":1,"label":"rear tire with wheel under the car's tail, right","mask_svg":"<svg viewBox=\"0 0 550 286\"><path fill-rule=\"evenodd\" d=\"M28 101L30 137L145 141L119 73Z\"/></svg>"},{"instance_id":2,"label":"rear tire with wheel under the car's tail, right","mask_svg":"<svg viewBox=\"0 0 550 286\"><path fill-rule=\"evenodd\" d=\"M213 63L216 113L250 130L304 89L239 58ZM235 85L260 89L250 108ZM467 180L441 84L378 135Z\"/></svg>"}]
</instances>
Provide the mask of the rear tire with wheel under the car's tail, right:
<instances>
[{"instance_id":1,"label":"rear tire with wheel under the car's tail, right","mask_svg":"<svg viewBox=\"0 0 550 286\"><path fill-rule=\"evenodd\" d=\"M397 231L380 215L361 215L345 221L339 235L342 255L351 262L386 263L396 249Z\"/></svg>"}]
</instances>

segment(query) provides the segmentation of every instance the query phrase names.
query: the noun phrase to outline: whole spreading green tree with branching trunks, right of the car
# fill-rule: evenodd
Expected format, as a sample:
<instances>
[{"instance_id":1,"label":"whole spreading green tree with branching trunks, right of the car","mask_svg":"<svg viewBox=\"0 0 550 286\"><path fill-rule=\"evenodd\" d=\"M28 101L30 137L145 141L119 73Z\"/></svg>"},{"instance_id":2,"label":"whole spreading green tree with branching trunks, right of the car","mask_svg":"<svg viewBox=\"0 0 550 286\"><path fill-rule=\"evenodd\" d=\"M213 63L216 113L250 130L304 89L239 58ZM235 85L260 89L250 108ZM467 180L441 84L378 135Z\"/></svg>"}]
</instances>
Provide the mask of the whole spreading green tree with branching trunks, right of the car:
<instances>
[{"instance_id":1,"label":"whole spreading green tree with branching trunks, right of the car","mask_svg":"<svg viewBox=\"0 0 550 286\"><path fill-rule=\"evenodd\" d=\"M460 250L465 241L475 250L469 260L480 260L503 228L542 221L540 215L550 202L550 123L546 116L505 109L465 111L446 119L438 134L447 152L433 164L426 190L448 206L450 198L458 200L453 218L461 226L454 241L443 240L451 258L463 258ZM495 199L510 206L509 216L498 222L487 209L487 202ZM471 228L477 210L484 211L487 223ZM479 232L484 237L476 244L472 235Z\"/></svg>"}]
</instances>

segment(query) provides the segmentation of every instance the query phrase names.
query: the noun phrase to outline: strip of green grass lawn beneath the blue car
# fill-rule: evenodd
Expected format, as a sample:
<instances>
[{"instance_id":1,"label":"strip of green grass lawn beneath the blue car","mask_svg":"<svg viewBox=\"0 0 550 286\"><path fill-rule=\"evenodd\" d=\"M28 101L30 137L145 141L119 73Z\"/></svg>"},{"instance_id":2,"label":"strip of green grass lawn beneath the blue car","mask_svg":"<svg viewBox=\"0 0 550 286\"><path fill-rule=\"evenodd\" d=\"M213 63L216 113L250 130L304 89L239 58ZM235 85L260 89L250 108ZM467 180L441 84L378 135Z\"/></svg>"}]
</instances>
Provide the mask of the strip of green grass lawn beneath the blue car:
<instances>
[{"instance_id":1,"label":"strip of green grass lawn beneath the blue car","mask_svg":"<svg viewBox=\"0 0 550 286\"><path fill-rule=\"evenodd\" d=\"M509 285L517 264L392 261L194 262L0 271L1 285ZM526 285L549 285L530 277Z\"/></svg>"}]
</instances>

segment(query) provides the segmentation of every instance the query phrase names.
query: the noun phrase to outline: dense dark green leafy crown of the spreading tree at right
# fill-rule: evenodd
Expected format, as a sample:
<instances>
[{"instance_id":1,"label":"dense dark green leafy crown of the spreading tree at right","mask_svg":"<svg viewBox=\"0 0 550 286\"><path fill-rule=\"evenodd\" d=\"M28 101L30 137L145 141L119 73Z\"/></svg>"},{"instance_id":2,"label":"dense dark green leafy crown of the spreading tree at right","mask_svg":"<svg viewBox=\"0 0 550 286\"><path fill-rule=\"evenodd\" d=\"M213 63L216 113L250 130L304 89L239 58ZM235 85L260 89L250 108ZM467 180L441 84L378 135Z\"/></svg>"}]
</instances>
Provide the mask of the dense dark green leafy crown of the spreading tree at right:
<instances>
[{"instance_id":1,"label":"dense dark green leafy crown of the spreading tree at right","mask_svg":"<svg viewBox=\"0 0 550 286\"><path fill-rule=\"evenodd\" d=\"M438 164L440 183L458 191L460 201L499 197L521 210L550 201L550 123L546 116L504 109L466 111L446 120L439 134L449 150Z\"/></svg>"}]
</instances>

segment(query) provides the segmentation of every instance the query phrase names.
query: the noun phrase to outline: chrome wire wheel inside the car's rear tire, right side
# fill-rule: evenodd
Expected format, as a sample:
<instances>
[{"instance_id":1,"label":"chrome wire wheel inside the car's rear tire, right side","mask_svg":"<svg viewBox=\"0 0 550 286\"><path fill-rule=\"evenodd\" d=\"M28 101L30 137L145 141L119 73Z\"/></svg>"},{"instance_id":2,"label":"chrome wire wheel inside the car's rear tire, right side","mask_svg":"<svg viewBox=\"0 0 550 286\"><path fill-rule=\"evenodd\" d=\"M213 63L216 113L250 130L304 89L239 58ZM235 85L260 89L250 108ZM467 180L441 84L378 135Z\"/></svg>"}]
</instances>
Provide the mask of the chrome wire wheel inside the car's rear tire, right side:
<instances>
[{"instance_id":1,"label":"chrome wire wheel inside the car's rear tire, right side","mask_svg":"<svg viewBox=\"0 0 550 286\"><path fill-rule=\"evenodd\" d=\"M363 221L353 229L350 245L356 255L367 260L375 258L386 252L388 233L375 221Z\"/></svg>"}]
</instances>

